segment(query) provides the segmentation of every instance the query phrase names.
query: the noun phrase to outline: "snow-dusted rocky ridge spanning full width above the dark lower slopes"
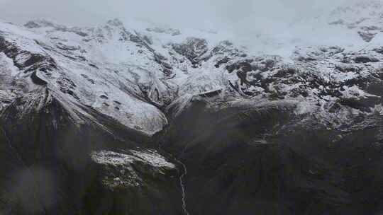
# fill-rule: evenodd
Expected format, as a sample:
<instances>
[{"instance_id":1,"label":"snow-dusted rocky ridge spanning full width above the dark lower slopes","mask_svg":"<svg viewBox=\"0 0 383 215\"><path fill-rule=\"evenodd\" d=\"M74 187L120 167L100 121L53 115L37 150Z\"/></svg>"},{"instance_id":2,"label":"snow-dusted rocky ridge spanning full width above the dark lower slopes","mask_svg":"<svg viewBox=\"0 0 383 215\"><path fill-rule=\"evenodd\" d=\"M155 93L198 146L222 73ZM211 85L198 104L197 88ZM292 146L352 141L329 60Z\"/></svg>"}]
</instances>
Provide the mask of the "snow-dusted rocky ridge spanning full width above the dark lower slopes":
<instances>
[{"instance_id":1,"label":"snow-dusted rocky ridge spanning full width above the dark lower slopes","mask_svg":"<svg viewBox=\"0 0 383 215\"><path fill-rule=\"evenodd\" d=\"M383 40L376 32L367 42L358 31L379 31L380 6L356 4L314 18L321 20L318 29L335 33L333 41L311 45L317 38L290 43L292 38L284 37L282 56L254 55L212 33L148 23L126 26L111 20L78 28L45 20L24 27L1 22L0 110L18 97L46 88L50 95L64 98L71 112L91 107L148 135L168 123L164 112L177 115L199 96L213 103L238 98L296 100L301 103L296 112L305 114L318 113L318 108L329 114L334 105L340 112L372 114L381 105ZM355 17L362 21L355 24ZM331 23L335 19L343 22ZM298 22L296 28L310 22ZM353 46L332 45L338 42L336 32L350 31L355 35L348 41ZM262 37L255 42L260 41ZM270 47L279 44L274 42Z\"/></svg>"}]
</instances>

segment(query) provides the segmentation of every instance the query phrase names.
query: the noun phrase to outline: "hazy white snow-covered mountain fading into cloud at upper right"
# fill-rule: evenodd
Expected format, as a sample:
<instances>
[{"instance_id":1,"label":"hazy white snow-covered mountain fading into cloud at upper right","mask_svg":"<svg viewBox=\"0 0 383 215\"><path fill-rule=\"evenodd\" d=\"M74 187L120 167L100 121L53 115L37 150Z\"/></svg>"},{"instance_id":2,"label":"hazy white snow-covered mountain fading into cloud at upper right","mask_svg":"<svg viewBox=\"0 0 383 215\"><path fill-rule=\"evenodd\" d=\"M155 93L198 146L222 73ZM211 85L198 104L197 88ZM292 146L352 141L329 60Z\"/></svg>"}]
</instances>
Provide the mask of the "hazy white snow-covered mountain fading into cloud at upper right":
<instances>
[{"instance_id":1,"label":"hazy white snow-covered mountain fading into cloud at upper right","mask_svg":"<svg viewBox=\"0 0 383 215\"><path fill-rule=\"evenodd\" d=\"M332 10L319 10L279 28L257 33L243 42L255 51L289 56L296 46L340 45L350 50L379 46L382 41L382 1L345 1ZM347 40L345 40L347 38Z\"/></svg>"}]
</instances>

